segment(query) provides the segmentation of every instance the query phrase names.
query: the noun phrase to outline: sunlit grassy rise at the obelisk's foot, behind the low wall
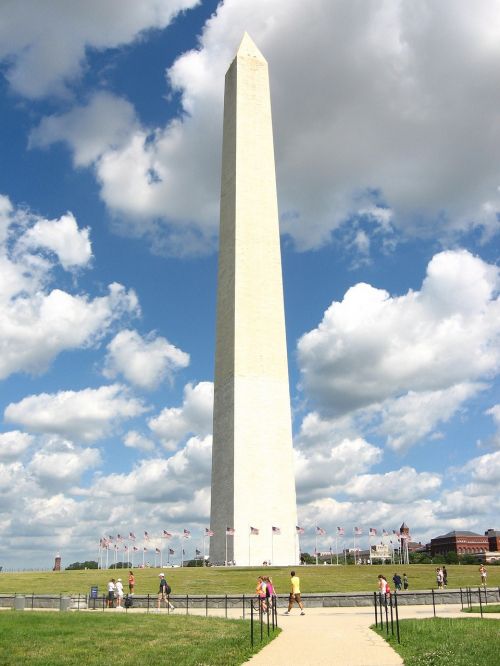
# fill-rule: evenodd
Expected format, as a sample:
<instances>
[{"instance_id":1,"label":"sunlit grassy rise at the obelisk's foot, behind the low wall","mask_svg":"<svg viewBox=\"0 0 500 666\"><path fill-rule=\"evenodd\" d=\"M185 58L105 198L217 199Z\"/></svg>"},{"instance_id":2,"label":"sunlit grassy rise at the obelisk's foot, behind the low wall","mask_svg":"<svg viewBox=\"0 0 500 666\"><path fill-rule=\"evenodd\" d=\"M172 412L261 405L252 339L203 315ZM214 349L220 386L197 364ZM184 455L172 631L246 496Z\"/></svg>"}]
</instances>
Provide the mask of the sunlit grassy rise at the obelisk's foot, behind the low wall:
<instances>
[{"instance_id":1,"label":"sunlit grassy rise at the obelisk's foot, behind the low wall","mask_svg":"<svg viewBox=\"0 0 500 666\"><path fill-rule=\"evenodd\" d=\"M409 576L410 590L435 587L435 566L411 564L409 566L307 566L298 567L301 590L308 592L366 592L376 589L377 574L384 573L390 580L394 572L403 571ZM479 573L476 565L450 565L448 587L476 587ZM136 593L156 593L160 569L135 569ZM253 594L259 573L273 577L279 593L287 593L290 585L290 568L184 568L167 569L166 577L173 594ZM126 584L128 571L43 571L28 573L0 573L0 593L77 594L88 593L91 585L105 590L106 582L113 576L121 577ZM489 567L488 585L500 586L500 567Z\"/></svg>"}]
</instances>

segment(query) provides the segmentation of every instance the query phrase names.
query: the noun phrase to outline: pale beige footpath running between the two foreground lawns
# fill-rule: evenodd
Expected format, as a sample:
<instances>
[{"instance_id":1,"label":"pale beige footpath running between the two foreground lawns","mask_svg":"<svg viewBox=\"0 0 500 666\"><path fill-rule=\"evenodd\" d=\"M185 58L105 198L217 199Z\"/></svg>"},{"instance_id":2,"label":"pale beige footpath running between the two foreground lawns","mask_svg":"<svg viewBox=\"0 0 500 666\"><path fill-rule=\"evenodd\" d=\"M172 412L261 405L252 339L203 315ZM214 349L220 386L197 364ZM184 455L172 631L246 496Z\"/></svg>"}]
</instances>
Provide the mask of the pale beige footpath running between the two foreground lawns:
<instances>
[{"instance_id":1,"label":"pale beige footpath running between the two foreground lawns","mask_svg":"<svg viewBox=\"0 0 500 666\"><path fill-rule=\"evenodd\" d=\"M432 617L432 606L404 606L399 617ZM460 605L439 607L440 617L464 617ZM278 615L281 634L247 663L252 666L393 666L401 657L369 627L373 608L311 608Z\"/></svg>"}]
</instances>

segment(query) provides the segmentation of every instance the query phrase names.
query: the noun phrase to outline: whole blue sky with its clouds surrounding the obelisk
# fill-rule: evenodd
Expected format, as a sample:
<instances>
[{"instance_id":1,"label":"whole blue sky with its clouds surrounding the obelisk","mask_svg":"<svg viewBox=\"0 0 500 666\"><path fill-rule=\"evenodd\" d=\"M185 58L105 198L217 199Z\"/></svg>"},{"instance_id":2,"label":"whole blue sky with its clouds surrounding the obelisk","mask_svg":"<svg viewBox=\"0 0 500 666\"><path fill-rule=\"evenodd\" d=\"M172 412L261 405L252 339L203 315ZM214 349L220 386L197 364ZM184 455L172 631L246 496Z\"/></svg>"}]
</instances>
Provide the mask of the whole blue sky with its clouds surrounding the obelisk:
<instances>
[{"instance_id":1,"label":"whole blue sky with its clouds surrounding the obelisk","mask_svg":"<svg viewBox=\"0 0 500 666\"><path fill-rule=\"evenodd\" d=\"M325 550L337 526L499 527L498 10L0 8L0 565L145 530L200 546L245 30L270 67L303 549L317 525Z\"/></svg>"}]
</instances>

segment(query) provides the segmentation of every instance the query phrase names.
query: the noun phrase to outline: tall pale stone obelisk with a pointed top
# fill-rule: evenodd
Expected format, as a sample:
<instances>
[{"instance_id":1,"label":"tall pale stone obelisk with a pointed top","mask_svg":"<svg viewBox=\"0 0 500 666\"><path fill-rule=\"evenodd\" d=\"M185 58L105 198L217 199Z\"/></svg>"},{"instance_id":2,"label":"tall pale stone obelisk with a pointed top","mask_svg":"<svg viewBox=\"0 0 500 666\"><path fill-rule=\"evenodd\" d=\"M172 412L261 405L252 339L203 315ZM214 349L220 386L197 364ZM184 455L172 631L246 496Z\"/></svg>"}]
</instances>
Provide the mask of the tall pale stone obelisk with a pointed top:
<instances>
[{"instance_id":1,"label":"tall pale stone obelisk with a pointed top","mask_svg":"<svg viewBox=\"0 0 500 666\"><path fill-rule=\"evenodd\" d=\"M210 560L296 564L296 523L269 76L245 33L224 93Z\"/></svg>"}]
</instances>

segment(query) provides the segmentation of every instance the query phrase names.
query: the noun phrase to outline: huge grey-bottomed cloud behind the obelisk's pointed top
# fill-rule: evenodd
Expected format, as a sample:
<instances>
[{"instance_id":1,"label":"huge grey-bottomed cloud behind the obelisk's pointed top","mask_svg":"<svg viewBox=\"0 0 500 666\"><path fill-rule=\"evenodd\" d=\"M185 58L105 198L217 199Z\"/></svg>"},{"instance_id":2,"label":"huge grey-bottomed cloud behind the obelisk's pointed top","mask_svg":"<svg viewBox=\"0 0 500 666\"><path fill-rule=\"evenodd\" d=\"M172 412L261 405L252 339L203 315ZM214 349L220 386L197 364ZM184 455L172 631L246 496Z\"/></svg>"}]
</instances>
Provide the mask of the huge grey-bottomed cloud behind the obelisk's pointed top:
<instances>
[{"instance_id":1,"label":"huge grey-bottomed cloud behind the obelisk's pointed top","mask_svg":"<svg viewBox=\"0 0 500 666\"><path fill-rule=\"evenodd\" d=\"M179 118L150 131L132 126L130 113L128 141L105 137L108 148L97 159L96 151L82 150L69 116L42 125L39 140L64 139L77 160L84 153L94 159L104 201L122 219L135 218L136 233L149 229L154 238L161 217L162 249L202 251L216 229L224 73L248 30L270 63L283 230L298 247L325 244L346 220L374 210L389 211L372 216L376 233L388 231L390 215L391 233L449 236L477 227L491 236L500 210L500 91L491 86L497 12L495 0L474 8L465 0L418 7L401 0L225 0L199 47L168 71ZM79 25L88 25L88 16ZM121 19L110 34L120 29ZM37 40L27 35L23 44L9 73L14 84ZM49 39L44 44L49 51ZM74 59L60 62L67 67ZM101 127L94 129L102 138ZM89 133L85 142L93 145ZM363 253L369 241L363 230L353 237Z\"/></svg>"}]
</instances>

